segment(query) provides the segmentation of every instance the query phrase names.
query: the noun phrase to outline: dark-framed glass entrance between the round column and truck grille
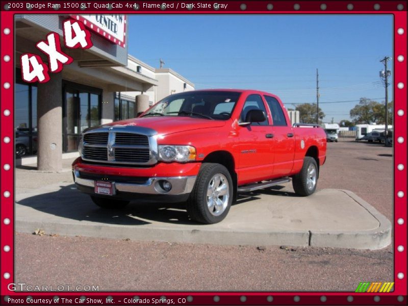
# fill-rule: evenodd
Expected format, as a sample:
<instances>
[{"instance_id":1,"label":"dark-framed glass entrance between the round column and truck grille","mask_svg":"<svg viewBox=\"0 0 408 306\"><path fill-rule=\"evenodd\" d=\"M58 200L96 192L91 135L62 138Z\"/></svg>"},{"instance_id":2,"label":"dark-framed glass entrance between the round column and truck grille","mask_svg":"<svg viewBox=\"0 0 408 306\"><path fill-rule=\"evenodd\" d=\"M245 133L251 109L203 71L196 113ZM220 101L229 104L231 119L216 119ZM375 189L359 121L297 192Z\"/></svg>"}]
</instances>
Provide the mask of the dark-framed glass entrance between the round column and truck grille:
<instances>
[{"instance_id":1,"label":"dark-framed glass entrance between the round column and truck grille","mask_svg":"<svg viewBox=\"0 0 408 306\"><path fill-rule=\"evenodd\" d=\"M81 133L100 124L102 90L77 83L63 81L65 152L78 150Z\"/></svg>"}]
</instances>

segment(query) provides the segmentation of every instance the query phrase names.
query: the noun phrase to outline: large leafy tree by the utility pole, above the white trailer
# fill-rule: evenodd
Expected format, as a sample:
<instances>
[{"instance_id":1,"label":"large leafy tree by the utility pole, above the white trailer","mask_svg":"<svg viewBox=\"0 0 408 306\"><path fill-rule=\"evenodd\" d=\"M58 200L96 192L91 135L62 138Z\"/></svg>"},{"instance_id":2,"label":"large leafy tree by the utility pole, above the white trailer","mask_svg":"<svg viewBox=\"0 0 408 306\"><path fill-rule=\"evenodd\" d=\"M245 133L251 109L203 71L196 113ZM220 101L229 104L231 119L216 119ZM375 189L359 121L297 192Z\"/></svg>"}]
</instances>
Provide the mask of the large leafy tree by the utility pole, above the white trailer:
<instances>
[{"instance_id":1,"label":"large leafy tree by the utility pole, above the white trailer","mask_svg":"<svg viewBox=\"0 0 408 306\"><path fill-rule=\"evenodd\" d=\"M392 107L393 102L388 104L388 122L392 124ZM368 98L360 98L360 103L350 110L350 117L356 123L378 123L385 124L385 103Z\"/></svg>"}]
</instances>

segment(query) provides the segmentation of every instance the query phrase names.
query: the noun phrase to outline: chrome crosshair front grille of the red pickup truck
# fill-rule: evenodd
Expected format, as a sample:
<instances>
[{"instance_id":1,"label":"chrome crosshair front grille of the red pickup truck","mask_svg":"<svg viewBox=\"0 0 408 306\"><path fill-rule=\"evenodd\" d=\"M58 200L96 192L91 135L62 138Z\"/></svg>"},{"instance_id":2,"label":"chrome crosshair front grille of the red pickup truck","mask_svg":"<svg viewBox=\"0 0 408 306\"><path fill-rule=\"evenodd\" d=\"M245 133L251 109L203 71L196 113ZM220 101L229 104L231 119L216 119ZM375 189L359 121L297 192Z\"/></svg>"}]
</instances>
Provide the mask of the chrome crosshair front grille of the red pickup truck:
<instances>
[{"instance_id":1,"label":"chrome crosshair front grille of the red pickup truck","mask_svg":"<svg viewBox=\"0 0 408 306\"><path fill-rule=\"evenodd\" d=\"M147 135L143 133L147 131ZM140 133L141 132L141 133ZM157 162L156 132L140 127L99 127L84 134L82 158L112 164L152 165Z\"/></svg>"}]
</instances>

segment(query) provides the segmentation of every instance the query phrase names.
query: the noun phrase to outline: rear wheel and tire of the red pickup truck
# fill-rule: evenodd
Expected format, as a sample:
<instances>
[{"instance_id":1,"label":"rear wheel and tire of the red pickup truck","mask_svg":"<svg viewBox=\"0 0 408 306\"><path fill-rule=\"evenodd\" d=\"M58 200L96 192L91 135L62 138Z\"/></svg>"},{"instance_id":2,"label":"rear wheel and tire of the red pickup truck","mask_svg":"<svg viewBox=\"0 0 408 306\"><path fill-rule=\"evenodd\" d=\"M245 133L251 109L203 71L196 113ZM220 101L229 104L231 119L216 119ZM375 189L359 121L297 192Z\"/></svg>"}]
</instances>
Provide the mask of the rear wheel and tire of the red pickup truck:
<instances>
[{"instance_id":1,"label":"rear wheel and tire of the red pickup truck","mask_svg":"<svg viewBox=\"0 0 408 306\"><path fill-rule=\"evenodd\" d=\"M313 157L305 157L299 173L293 176L292 185L296 194L308 196L315 192L318 178L318 167Z\"/></svg>"}]
</instances>

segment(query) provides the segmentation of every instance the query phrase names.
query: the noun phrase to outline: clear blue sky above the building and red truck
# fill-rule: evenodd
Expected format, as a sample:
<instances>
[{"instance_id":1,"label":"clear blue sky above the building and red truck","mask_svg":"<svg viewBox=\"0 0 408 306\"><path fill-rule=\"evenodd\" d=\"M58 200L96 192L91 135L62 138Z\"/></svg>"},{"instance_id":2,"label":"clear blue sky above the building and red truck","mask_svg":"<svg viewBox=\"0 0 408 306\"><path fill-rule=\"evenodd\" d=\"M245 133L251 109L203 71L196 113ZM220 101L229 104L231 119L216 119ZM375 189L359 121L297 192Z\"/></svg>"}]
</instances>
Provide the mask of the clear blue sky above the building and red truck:
<instances>
[{"instance_id":1,"label":"clear blue sky above the building and red truck","mask_svg":"<svg viewBox=\"0 0 408 306\"><path fill-rule=\"evenodd\" d=\"M196 89L265 90L287 108L316 102L318 68L323 120L339 122L361 97L384 101L392 27L392 15L130 15L127 34L131 55Z\"/></svg>"}]
</instances>

